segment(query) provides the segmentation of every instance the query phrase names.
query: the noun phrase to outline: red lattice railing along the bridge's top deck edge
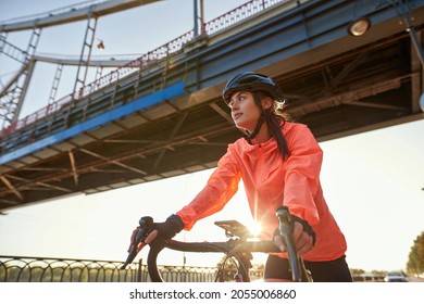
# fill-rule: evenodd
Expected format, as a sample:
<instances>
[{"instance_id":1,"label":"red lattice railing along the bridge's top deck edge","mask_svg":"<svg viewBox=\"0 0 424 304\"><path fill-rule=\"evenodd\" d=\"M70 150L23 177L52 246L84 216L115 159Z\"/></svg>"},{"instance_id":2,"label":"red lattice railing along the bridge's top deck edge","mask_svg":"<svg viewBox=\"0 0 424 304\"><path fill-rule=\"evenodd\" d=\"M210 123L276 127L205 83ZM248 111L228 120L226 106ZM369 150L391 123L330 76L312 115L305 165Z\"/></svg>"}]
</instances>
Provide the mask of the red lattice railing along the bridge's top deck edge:
<instances>
[{"instance_id":1,"label":"red lattice railing along the bridge's top deck edge","mask_svg":"<svg viewBox=\"0 0 424 304\"><path fill-rule=\"evenodd\" d=\"M234 24L237 24L241 21L245 21L246 18L258 14L277 3L295 3L296 5L299 5L303 1L299 0L251 0L208 23L205 23L202 27L202 35L211 36L213 34L219 33L220 30L223 30ZM124 66L119 67L116 71L111 72L108 75L104 75L95 81L82 87L78 92L71 93L68 96L65 96L64 98L40 109L39 111L27 115L26 117L18 119L14 123L12 123L10 126L8 126L4 129L0 130L0 136L9 136L15 130L23 128L38 119L41 119L42 117L46 117L55 111L62 109L62 106L66 103L71 103L74 100L83 99L87 97L90 93L93 93L98 90L100 90L103 87L110 86L116 81L119 81L121 78L137 72L139 68L146 68L148 69L151 65L157 64L158 61L161 61L163 59L166 59L167 56L175 54L183 50L183 47L191 41L194 39L194 30L190 30L172 41L152 50L148 53L141 55L140 58L128 62Z\"/></svg>"}]
</instances>

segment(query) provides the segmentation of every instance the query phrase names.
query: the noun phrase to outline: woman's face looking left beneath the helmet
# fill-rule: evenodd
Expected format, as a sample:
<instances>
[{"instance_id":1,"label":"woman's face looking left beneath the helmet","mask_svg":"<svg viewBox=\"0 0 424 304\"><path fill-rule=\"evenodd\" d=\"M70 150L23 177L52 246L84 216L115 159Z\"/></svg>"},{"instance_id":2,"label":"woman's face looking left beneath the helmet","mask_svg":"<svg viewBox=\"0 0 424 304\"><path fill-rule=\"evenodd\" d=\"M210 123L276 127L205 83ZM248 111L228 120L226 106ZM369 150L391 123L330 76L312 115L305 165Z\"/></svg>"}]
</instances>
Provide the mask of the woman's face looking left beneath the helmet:
<instances>
[{"instance_id":1,"label":"woman's face looking left beneath the helmet","mask_svg":"<svg viewBox=\"0 0 424 304\"><path fill-rule=\"evenodd\" d=\"M261 110L255 104L252 93L248 91L235 92L228 106L236 126L252 132L261 115Z\"/></svg>"}]
</instances>

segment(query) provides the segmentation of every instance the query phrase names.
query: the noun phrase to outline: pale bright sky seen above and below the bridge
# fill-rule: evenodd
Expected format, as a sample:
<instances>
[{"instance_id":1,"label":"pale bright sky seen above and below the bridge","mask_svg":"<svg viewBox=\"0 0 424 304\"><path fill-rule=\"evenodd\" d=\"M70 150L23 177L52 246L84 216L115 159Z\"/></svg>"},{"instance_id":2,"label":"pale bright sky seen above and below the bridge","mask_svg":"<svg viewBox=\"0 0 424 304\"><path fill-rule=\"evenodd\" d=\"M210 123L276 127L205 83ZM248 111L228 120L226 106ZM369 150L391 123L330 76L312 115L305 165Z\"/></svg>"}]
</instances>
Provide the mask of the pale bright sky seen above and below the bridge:
<instances>
[{"instance_id":1,"label":"pale bright sky seen above and below the bridge","mask_svg":"<svg viewBox=\"0 0 424 304\"><path fill-rule=\"evenodd\" d=\"M2 0L0 21L46 12L80 1ZM204 0L210 21L246 0ZM169 0L99 18L96 39L103 52L93 55L144 54L192 28L192 0ZM1 23L1 22L0 22ZM119 26L116 26L119 25ZM45 28L38 53L76 55L82 49L86 22ZM11 33L8 41L25 49L29 31ZM18 65L0 55L0 86ZM55 66L37 63L22 115L47 105ZM71 93L75 69L58 98ZM62 80L63 81L63 80ZM423 116L424 118L424 116ZM322 185L331 211L348 241L351 268L390 270L406 268L415 238L424 231L424 119L320 143L324 151ZM103 193L76 194L5 212L0 216L0 256L37 256L125 261L133 229L141 216L157 221L177 212L200 191L212 169ZM215 220L237 219L252 226L242 185L219 214L200 220L185 241L223 241ZM188 265L215 264L220 256L185 254ZM164 252L162 264L182 264L183 253ZM141 252L137 258L146 258ZM262 262L264 255L254 255Z\"/></svg>"}]
</instances>

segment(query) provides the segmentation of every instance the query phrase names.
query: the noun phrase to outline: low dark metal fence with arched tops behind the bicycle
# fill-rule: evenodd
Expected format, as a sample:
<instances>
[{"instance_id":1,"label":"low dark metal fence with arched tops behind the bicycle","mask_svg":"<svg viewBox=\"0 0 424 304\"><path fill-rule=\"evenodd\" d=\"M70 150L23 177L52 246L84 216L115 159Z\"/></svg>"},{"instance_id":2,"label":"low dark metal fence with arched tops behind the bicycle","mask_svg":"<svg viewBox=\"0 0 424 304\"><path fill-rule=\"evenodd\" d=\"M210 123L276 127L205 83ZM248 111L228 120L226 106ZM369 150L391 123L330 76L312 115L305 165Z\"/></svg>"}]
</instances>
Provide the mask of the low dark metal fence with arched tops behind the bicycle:
<instances>
[{"instance_id":1,"label":"low dark metal fence with arched tops behind the bicycle","mask_svg":"<svg viewBox=\"0 0 424 304\"><path fill-rule=\"evenodd\" d=\"M0 256L0 282L149 282L142 259L123 262ZM215 267L159 266L167 282L213 282Z\"/></svg>"}]
</instances>

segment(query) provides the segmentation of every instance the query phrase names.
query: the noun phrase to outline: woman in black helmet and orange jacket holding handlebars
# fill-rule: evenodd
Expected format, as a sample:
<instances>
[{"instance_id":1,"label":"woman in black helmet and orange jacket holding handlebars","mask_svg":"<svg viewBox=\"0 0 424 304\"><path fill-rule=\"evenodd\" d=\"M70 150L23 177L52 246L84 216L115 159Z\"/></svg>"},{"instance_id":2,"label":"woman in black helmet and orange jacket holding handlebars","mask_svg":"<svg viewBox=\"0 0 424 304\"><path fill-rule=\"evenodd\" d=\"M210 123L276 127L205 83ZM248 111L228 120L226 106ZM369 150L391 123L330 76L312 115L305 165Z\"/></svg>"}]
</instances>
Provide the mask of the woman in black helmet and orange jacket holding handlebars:
<instances>
[{"instance_id":1,"label":"woman in black helmet and orange jacket holding handlebars","mask_svg":"<svg viewBox=\"0 0 424 304\"><path fill-rule=\"evenodd\" d=\"M264 230L262 237L273 239L282 250L269 255L265 281L291 280L283 241L275 232L275 211L282 205L292 215L292 238L313 281L352 281L345 259L345 237L321 188L323 152L310 129L294 123L283 111L283 92L265 75L236 75L226 84L222 97L245 136L228 145L205 187L188 205L164 223L154 224L157 238L172 239L183 229L190 230L197 220L221 211L242 179L251 214Z\"/></svg>"}]
</instances>

